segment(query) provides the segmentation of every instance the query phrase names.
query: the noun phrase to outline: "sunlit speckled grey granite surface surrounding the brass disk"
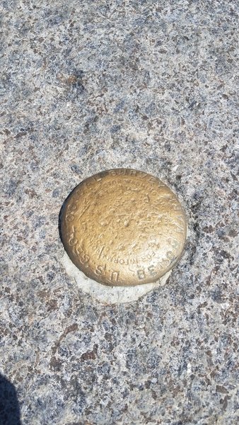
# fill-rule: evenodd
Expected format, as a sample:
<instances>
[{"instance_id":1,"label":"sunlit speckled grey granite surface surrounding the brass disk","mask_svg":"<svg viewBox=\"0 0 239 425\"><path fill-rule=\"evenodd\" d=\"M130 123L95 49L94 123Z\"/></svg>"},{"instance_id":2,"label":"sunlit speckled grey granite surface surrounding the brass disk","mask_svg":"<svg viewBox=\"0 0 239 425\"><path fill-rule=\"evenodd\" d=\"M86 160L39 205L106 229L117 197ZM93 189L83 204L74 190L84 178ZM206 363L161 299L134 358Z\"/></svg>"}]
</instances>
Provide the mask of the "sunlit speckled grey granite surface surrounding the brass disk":
<instances>
[{"instance_id":1,"label":"sunlit speckled grey granite surface surrounding the brass disk","mask_svg":"<svg viewBox=\"0 0 239 425\"><path fill-rule=\"evenodd\" d=\"M2 1L1 373L23 425L233 425L236 1ZM155 174L190 237L162 288L104 305L58 214L103 169Z\"/></svg>"}]
</instances>

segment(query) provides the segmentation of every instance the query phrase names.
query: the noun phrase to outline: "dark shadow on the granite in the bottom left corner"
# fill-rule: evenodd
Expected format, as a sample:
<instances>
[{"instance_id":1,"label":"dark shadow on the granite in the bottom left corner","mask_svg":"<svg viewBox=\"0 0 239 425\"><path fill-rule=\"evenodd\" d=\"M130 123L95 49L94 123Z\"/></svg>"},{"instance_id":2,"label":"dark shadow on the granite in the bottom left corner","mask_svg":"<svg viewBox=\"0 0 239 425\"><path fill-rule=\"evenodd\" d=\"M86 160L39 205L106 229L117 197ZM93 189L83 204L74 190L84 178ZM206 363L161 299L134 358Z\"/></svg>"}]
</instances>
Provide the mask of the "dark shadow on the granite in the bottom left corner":
<instances>
[{"instance_id":1,"label":"dark shadow on the granite in the bottom left corner","mask_svg":"<svg viewBox=\"0 0 239 425\"><path fill-rule=\"evenodd\" d=\"M16 389L0 374L0 424L21 425Z\"/></svg>"}]
</instances>

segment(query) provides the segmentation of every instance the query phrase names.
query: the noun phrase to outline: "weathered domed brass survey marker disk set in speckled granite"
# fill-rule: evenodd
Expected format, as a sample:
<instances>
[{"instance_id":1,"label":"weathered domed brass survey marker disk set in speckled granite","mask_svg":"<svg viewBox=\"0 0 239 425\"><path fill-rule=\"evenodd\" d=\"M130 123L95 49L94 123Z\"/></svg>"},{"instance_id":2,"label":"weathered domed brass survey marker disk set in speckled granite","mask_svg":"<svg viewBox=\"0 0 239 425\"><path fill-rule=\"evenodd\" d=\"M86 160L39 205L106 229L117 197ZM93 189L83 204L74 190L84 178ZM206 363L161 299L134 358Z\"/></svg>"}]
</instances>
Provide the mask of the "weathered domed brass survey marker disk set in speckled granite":
<instances>
[{"instance_id":1,"label":"weathered domed brass survey marker disk set in speckled granite","mask_svg":"<svg viewBox=\"0 0 239 425\"><path fill-rule=\"evenodd\" d=\"M86 276L110 286L156 282L182 256L187 225L175 194L142 171L82 181L61 214L62 242Z\"/></svg>"}]
</instances>

